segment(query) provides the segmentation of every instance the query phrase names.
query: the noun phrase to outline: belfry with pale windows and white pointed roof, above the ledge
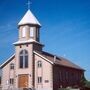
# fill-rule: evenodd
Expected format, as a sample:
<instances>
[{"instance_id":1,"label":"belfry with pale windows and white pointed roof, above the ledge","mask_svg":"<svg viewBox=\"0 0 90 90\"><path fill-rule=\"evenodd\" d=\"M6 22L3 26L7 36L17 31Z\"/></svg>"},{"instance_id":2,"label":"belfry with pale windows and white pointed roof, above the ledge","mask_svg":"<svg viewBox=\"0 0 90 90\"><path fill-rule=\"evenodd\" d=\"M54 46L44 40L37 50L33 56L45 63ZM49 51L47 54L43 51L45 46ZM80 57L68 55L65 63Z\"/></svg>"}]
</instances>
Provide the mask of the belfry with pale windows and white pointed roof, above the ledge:
<instances>
[{"instance_id":1,"label":"belfry with pale windows and white pointed roof, above the ledge","mask_svg":"<svg viewBox=\"0 0 90 90\"><path fill-rule=\"evenodd\" d=\"M30 10L26 12L24 17L18 23L18 27L19 41L34 40L39 42L39 29L41 24Z\"/></svg>"}]
</instances>

